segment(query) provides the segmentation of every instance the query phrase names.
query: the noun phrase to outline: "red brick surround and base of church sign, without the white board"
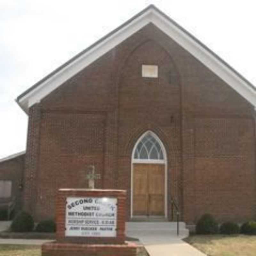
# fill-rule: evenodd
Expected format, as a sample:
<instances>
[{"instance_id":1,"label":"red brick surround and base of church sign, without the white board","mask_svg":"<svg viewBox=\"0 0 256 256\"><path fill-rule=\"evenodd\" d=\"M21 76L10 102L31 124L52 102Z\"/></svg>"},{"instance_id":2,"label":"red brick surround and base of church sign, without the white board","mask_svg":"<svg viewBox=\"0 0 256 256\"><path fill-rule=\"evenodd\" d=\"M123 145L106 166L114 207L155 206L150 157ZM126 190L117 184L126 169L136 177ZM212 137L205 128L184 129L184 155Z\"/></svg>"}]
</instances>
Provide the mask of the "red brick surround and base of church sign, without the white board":
<instances>
[{"instance_id":1,"label":"red brick surround and base of church sign, without the white board","mask_svg":"<svg viewBox=\"0 0 256 256\"><path fill-rule=\"evenodd\" d=\"M116 236L65 236L67 198L70 197L116 198ZM125 190L59 189L56 202L56 241L42 245L42 256L136 256L136 244L125 242L125 202Z\"/></svg>"}]
</instances>

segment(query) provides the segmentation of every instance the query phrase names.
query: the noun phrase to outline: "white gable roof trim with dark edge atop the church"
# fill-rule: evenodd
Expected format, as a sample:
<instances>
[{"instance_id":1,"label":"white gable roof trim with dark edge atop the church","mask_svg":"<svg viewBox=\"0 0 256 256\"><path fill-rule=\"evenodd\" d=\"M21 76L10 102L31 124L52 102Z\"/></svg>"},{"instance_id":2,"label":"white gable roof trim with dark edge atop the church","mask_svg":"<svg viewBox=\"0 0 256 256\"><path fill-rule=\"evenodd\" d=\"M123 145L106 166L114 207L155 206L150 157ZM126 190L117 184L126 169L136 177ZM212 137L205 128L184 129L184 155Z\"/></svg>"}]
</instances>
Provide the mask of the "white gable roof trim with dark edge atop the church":
<instances>
[{"instance_id":1,"label":"white gable roof trim with dark edge atop the church","mask_svg":"<svg viewBox=\"0 0 256 256\"><path fill-rule=\"evenodd\" d=\"M69 78L76 75L93 61L100 58L103 54L113 49L116 45L120 44L149 23L153 23L157 28L180 44L180 46L201 61L206 67L212 70L236 92L256 107L255 87L208 47L154 5L149 5L120 27L102 37L99 41L45 76L42 80L20 94L16 99L17 103L28 113L29 107L40 102L45 96L50 94Z\"/></svg>"}]
</instances>

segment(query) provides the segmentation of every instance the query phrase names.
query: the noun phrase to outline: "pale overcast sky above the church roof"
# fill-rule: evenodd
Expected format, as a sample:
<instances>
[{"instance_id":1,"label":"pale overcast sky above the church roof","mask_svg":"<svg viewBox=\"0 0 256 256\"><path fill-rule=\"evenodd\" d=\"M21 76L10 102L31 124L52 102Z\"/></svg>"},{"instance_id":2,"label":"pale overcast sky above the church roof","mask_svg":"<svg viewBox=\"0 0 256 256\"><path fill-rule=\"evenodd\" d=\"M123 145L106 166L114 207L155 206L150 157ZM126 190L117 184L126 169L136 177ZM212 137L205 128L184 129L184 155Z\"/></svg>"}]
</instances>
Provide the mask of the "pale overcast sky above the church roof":
<instances>
[{"instance_id":1,"label":"pale overcast sky above the church roof","mask_svg":"<svg viewBox=\"0 0 256 256\"><path fill-rule=\"evenodd\" d=\"M149 4L256 85L254 2L0 0L0 158L26 148L17 96Z\"/></svg>"}]
</instances>

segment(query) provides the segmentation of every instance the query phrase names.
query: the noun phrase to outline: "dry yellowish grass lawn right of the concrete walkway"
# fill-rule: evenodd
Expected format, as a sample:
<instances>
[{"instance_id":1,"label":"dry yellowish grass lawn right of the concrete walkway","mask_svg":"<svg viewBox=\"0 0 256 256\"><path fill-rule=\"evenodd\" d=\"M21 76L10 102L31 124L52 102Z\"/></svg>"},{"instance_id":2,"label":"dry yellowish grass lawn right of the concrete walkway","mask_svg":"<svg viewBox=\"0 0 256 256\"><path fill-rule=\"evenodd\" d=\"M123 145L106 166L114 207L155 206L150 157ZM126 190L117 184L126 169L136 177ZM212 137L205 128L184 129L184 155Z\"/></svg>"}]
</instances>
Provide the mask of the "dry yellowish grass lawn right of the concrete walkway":
<instances>
[{"instance_id":1,"label":"dry yellowish grass lawn right of the concrete walkway","mask_svg":"<svg viewBox=\"0 0 256 256\"><path fill-rule=\"evenodd\" d=\"M208 256L256 255L256 236L193 235L184 240Z\"/></svg>"}]
</instances>

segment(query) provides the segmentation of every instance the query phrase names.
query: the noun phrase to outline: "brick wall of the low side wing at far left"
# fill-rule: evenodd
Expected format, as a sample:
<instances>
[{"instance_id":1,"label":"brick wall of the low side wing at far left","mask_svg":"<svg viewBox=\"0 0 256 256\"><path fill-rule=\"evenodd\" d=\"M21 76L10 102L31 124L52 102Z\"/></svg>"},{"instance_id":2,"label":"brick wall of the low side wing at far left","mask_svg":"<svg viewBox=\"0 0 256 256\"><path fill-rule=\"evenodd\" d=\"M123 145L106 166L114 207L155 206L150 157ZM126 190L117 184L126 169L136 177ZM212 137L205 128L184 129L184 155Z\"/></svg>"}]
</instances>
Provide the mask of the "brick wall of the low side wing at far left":
<instances>
[{"instance_id":1,"label":"brick wall of the low side wing at far left","mask_svg":"<svg viewBox=\"0 0 256 256\"><path fill-rule=\"evenodd\" d=\"M24 158L25 158L25 154L0 163L0 180L12 181L11 197L1 198L1 195L0 195L0 203L8 203L12 200L12 198L15 197L16 212L20 211L22 207L23 190L20 188L20 185L24 186L23 184Z\"/></svg>"}]
</instances>

